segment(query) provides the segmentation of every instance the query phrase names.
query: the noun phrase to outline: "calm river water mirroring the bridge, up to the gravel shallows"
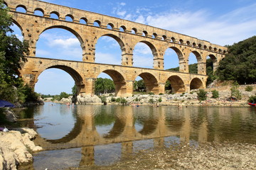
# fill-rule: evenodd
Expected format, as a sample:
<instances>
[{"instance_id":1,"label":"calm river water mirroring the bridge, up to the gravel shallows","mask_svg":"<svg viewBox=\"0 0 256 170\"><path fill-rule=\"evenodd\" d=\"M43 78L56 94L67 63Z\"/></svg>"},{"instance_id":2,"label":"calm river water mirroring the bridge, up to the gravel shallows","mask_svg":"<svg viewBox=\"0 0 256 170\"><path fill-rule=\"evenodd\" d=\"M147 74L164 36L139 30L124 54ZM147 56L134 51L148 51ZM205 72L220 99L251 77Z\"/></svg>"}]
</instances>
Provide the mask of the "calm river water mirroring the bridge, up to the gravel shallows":
<instances>
[{"instance_id":1,"label":"calm river water mirroring the bridge, up to the gravel shallows","mask_svg":"<svg viewBox=\"0 0 256 170\"><path fill-rule=\"evenodd\" d=\"M247 142L256 144L256 107L189 106L65 106L45 103L28 108L22 118L36 128L31 169L68 169L107 166L144 149L170 147L181 142Z\"/></svg>"}]
</instances>

